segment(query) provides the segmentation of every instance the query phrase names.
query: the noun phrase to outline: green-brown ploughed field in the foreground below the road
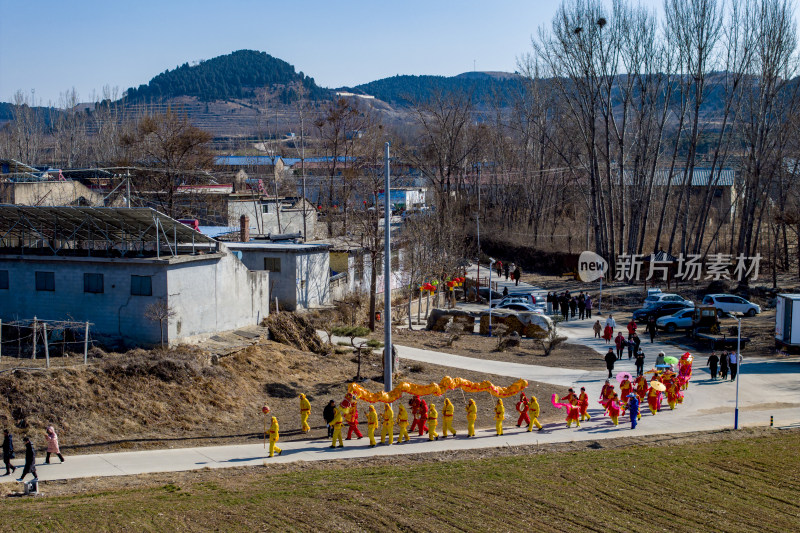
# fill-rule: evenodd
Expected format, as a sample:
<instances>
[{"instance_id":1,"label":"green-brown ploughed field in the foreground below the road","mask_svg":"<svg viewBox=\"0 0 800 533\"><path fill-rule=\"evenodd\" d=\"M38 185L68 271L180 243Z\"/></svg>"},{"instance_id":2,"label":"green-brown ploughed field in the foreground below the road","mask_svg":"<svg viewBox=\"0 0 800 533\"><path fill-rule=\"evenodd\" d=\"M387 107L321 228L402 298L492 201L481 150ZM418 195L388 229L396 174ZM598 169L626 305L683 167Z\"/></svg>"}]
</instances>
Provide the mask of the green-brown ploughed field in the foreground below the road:
<instances>
[{"instance_id":1,"label":"green-brown ploughed field in the foreground below the road","mask_svg":"<svg viewBox=\"0 0 800 533\"><path fill-rule=\"evenodd\" d=\"M800 431L667 440L118 480L102 492L7 498L0 530L800 530Z\"/></svg>"}]
</instances>

